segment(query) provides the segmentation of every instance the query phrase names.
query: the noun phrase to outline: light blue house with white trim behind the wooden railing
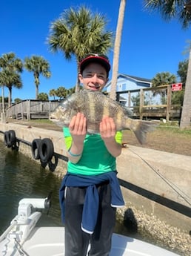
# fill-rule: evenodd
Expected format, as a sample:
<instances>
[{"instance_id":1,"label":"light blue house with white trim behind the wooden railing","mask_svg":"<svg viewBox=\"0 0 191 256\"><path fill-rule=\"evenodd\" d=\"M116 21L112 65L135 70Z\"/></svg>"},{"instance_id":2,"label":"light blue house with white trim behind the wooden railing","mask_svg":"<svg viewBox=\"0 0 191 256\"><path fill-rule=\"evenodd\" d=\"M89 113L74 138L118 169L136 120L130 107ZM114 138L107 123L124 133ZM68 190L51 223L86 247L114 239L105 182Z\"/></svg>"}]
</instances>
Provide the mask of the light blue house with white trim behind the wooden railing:
<instances>
[{"instance_id":1,"label":"light blue house with white trim behind the wooden railing","mask_svg":"<svg viewBox=\"0 0 191 256\"><path fill-rule=\"evenodd\" d=\"M138 76L130 76L123 73L118 74L117 79L117 86L116 86L116 92L122 92L126 91L126 93L121 93L119 97L119 102L122 105L134 105L133 100L131 98L131 102L128 102L128 93L127 91L134 91L134 93L131 93L131 97L133 96L134 99L138 97L138 91L142 88L150 88L152 86L151 79L145 79ZM111 80L107 82L107 85L105 86L105 89L107 93L110 93L111 88ZM137 91L136 91L137 90Z\"/></svg>"}]
</instances>

